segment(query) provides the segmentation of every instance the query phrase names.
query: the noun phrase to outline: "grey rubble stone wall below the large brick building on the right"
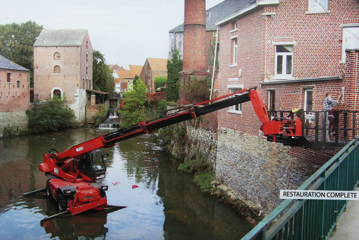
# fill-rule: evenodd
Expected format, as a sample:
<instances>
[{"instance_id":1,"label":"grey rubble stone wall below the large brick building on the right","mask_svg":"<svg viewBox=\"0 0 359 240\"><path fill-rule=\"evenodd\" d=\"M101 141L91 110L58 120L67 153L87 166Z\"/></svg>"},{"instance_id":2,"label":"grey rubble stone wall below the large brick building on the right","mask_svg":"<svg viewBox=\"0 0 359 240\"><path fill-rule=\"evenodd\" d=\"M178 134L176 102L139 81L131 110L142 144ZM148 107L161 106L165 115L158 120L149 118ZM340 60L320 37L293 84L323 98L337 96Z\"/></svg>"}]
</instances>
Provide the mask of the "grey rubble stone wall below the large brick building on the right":
<instances>
[{"instance_id":1,"label":"grey rubble stone wall below the large brick building on the right","mask_svg":"<svg viewBox=\"0 0 359 240\"><path fill-rule=\"evenodd\" d=\"M289 146L227 130L218 133L215 177L237 196L269 213L281 189L296 189L320 165L292 157Z\"/></svg>"}]
</instances>

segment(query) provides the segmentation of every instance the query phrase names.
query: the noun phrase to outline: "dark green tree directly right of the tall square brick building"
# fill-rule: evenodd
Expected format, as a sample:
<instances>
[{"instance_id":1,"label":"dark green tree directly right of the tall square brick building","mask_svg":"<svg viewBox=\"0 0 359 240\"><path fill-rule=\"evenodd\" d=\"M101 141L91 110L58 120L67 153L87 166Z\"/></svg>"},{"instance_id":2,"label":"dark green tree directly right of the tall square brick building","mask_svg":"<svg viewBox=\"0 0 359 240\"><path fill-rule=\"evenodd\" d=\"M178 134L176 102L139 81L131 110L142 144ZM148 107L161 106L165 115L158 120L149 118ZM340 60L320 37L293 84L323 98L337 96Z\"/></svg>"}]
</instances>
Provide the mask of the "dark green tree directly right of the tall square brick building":
<instances>
[{"instance_id":1,"label":"dark green tree directly right of the tall square brick building","mask_svg":"<svg viewBox=\"0 0 359 240\"><path fill-rule=\"evenodd\" d=\"M104 55L97 51L93 51L93 83L92 87L95 90L106 91L107 93L114 92L115 78L112 76L112 71L106 64Z\"/></svg>"}]
</instances>

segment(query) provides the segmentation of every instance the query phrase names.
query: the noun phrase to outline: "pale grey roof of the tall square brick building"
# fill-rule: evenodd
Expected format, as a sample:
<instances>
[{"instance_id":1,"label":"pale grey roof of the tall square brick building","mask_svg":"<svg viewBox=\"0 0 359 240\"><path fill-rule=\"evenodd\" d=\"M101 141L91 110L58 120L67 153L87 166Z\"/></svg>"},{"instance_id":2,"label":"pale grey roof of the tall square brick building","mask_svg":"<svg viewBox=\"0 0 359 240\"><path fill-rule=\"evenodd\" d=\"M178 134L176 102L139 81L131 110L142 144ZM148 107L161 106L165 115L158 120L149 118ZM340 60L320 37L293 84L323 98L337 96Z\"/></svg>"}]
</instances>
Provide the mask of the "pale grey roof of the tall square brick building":
<instances>
[{"instance_id":1,"label":"pale grey roof of the tall square brick building","mask_svg":"<svg viewBox=\"0 0 359 240\"><path fill-rule=\"evenodd\" d=\"M81 46L87 29L43 29L34 47Z\"/></svg>"}]
</instances>

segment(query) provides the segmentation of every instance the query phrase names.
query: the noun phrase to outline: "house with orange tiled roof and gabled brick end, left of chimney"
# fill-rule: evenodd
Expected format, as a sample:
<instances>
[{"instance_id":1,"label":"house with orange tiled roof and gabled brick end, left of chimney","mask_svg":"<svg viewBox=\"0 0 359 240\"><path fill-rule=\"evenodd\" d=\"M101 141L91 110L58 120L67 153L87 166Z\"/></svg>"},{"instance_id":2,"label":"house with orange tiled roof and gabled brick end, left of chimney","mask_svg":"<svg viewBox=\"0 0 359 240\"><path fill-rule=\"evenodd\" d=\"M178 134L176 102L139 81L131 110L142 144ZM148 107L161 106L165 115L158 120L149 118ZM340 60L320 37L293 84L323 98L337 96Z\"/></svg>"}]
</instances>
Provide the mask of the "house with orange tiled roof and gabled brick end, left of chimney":
<instances>
[{"instance_id":1,"label":"house with orange tiled roof and gabled brick end, left of chimney","mask_svg":"<svg viewBox=\"0 0 359 240\"><path fill-rule=\"evenodd\" d=\"M154 85L155 77L167 78L167 61L167 59L146 59L139 77L141 77L141 80L147 86L147 91L149 93L154 93L156 90Z\"/></svg>"}]
</instances>

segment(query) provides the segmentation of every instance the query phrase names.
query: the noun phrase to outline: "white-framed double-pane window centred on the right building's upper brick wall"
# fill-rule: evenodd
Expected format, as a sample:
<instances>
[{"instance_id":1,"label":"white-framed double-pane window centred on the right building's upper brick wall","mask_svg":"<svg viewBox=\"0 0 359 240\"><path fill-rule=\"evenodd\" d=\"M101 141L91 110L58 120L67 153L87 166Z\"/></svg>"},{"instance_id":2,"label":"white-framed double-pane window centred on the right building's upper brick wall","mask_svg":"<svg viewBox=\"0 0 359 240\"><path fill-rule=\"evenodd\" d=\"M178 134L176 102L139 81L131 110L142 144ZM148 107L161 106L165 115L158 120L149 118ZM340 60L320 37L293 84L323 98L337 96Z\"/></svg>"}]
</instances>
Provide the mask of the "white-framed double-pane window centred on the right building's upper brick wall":
<instances>
[{"instance_id":1,"label":"white-framed double-pane window centred on the right building's upper brick wall","mask_svg":"<svg viewBox=\"0 0 359 240\"><path fill-rule=\"evenodd\" d=\"M293 79L293 45L275 46L275 76L276 79Z\"/></svg>"}]
</instances>

